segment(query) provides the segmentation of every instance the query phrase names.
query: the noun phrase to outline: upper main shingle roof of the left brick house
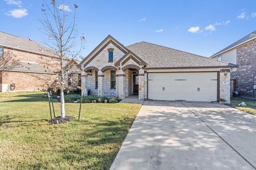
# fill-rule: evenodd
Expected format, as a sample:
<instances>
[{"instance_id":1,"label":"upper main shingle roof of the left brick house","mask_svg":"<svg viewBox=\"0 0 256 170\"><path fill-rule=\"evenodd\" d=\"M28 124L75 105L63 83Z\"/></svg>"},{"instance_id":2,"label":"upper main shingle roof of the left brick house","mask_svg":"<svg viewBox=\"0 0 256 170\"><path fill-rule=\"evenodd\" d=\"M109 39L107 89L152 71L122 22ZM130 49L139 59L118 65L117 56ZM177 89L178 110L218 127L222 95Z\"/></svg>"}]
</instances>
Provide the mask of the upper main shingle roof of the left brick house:
<instances>
[{"instance_id":1,"label":"upper main shingle roof of the left brick house","mask_svg":"<svg viewBox=\"0 0 256 170\"><path fill-rule=\"evenodd\" d=\"M0 31L0 46L10 47L22 51L29 51L41 55L56 56L54 52L43 45L28 38L21 38ZM42 50L43 49L43 50Z\"/></svg>"}]
</instances>

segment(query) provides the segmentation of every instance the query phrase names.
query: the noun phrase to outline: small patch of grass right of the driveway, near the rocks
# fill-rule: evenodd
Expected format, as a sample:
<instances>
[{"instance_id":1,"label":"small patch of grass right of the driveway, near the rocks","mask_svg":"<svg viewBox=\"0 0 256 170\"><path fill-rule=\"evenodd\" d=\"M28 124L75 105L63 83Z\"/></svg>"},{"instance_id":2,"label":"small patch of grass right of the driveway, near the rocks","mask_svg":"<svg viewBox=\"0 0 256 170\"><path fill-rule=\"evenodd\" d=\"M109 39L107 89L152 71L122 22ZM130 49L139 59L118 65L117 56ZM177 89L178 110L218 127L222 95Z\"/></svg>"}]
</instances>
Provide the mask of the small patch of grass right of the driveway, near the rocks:
<instances>
[{"instance_id":1,"label":"small patch of grass right of the driveway, near the rocks","mask_svg":"<svg viewBox=\"0 0 256 170\"><path fill-rule=\"evenodd\" d=\"M238 106L238 104L242 102L246 104L246 107ZM230 107L234 107L246 113L256 115L256 100L250 100L250 99L244 99L244 98L231 98L230 103L231 104L227 104Z\"/></svg>"}]
</instances>

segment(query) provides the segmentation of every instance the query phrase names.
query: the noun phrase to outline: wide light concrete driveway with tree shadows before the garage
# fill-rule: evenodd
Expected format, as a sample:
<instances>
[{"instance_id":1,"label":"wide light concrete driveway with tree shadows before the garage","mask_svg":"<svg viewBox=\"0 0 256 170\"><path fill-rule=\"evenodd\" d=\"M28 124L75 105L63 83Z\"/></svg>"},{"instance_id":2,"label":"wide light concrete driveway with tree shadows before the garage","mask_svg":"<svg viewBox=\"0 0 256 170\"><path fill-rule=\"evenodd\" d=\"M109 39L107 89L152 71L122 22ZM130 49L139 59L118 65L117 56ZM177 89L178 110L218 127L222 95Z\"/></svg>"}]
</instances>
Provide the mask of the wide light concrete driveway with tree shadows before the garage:
<instances>
[{"instance_id":1,"label":"wide light concrete driveway with tree shadows before the garage","mask_svg":"<svg viewBox=\"0 0 256 170\"><path fill-rule=\"evenodd\" d=\"M220 104L145 101L110 169L255 166L256 116Z\"/></svg>"}]
</instances>

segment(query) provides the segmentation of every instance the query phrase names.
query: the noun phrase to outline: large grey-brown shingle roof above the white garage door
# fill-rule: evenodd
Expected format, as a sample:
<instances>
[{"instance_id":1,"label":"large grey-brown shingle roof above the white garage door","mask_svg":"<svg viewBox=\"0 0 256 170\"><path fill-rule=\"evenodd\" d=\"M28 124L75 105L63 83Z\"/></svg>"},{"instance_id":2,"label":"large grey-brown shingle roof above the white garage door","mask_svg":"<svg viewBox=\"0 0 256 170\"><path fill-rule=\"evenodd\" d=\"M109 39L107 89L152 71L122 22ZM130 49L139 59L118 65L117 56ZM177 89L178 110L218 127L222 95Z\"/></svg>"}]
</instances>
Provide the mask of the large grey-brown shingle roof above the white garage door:
<instances>
[{"instance_id":1,"label":"large grey-brown shingle roof above the white garage door","mask_svg":"<svg viewBox=\"0 0 256 170\"><path fill-rule=\"evenodd\" d=\"M218 67L237 67L235 64L216 61L208 57L187 53L184 51L147 43L142 41L127 46L138 57L144 60L149 68L218 68Z\"/></svg>"}]
</instances>

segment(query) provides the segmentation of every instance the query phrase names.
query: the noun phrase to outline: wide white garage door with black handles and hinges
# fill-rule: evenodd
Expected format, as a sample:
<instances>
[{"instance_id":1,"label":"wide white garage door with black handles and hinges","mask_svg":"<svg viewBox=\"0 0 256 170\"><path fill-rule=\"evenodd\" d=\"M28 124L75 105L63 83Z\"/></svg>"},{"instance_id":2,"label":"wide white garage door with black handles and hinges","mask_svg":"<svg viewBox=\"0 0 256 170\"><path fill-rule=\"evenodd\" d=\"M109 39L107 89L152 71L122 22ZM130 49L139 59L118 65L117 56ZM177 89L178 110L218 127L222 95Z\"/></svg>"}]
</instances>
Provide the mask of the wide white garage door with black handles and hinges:
<instances>
[{"instance_id":1,"label":"wide white garage door with black handles and hinges","mask_svg":"<svg viewBox=\"0 0 256 170\"><path fill-rule=\"evenodd\" d=\"M217 72L148 73L148 99L217 101Z\"/></svg>"}]
</instances>

